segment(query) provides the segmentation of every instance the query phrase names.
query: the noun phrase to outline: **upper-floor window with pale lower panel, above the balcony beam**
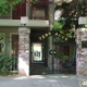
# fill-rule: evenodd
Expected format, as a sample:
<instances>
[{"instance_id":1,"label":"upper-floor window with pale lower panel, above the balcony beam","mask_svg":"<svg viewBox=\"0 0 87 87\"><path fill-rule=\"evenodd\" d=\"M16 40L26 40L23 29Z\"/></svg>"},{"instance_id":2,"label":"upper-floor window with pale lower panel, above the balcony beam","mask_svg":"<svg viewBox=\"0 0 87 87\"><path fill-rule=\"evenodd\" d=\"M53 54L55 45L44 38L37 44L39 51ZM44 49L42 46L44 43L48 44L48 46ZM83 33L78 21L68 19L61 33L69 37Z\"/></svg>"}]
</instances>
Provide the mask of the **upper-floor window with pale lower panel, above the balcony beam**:
<instances>
[{"instance_id":1,"label":"upper-floor window with pale lower panel, above the balcony beam","mask_svg":"<svg viewBox=\"0 0 87 87\"><path fill-rule=\"evenodd\" d=\"M47 4L33 4L32 5L33 20L48 20L48 5Z\"/></svg>"}]
</instances>

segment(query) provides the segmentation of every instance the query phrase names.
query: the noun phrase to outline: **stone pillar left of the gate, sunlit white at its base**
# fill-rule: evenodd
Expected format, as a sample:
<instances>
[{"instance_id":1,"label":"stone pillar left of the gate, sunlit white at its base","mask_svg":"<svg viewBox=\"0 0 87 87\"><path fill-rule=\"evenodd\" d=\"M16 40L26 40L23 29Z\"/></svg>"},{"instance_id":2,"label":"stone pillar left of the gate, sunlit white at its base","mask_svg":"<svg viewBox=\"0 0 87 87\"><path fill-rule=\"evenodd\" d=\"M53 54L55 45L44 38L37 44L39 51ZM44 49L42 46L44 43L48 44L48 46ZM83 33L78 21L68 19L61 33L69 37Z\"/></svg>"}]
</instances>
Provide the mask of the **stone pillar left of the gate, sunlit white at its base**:
<instances>
[{"instance_id":1,"label":"stone pillar left of the gate, sunlit white at its base","mask_svg":"<svg viewBox=\"0 0 87 87\"><path fill-rule=\"evenodd\" d=\"M18 28L18 75L29 75L29 34L27 27Z\"/></svg>"}]
</instances>

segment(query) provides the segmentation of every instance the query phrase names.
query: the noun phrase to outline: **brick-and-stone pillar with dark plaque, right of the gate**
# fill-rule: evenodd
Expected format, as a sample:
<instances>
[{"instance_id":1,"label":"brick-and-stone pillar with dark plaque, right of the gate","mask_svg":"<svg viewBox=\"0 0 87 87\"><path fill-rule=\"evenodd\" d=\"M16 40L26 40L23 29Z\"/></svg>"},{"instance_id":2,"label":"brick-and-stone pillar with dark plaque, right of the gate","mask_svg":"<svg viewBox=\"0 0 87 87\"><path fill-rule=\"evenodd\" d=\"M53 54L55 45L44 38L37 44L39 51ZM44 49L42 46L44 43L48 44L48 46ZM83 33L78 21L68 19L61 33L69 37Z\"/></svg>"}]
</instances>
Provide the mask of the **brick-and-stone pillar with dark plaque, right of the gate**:
<instances>
[{"instance_id":1,"label":"brick-and-stone pillar with dark plaque, right of the gate","mask_svg":"<svg viewBox=\"0 0 87 87\"><path fill-rule=\"evenodd\" d=\"M83 47L83 41L87 42L87 28L78 28L76 32L76 74L87 75L87 47ZM87 44L86 44L87 45Z\"/></svg>"}]
</instances>

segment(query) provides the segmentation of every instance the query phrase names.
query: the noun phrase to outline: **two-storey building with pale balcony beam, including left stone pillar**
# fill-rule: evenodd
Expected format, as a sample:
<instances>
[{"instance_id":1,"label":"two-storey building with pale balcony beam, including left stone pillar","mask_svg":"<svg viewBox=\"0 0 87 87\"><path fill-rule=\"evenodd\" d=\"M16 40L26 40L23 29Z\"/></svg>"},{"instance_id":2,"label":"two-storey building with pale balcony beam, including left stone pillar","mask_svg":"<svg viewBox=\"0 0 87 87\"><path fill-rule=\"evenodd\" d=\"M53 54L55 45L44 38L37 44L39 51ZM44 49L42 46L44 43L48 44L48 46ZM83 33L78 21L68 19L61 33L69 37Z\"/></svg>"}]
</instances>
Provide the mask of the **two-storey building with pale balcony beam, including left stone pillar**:
<instances>
[{"instance_id":1,"label":"two-storey building with pale balcony beam, including left stone pillar","mask_svg":"<svg viewBox=\"0 0 87 87\"><path fill-rule=\"evenodd\" d=\"M0 16L0 55L16 60L10 71L28 76L38 70L36 65L53 70L52 55L49 54L52 38L39 39L53 29L53 0L40 0L36 4L26 1L17 4L10 14ZM75 39L54 42L54 46L58 53L69 57L76 54ZM59 64L55 66L59 67Z\"/></svg>"}]
</instances>

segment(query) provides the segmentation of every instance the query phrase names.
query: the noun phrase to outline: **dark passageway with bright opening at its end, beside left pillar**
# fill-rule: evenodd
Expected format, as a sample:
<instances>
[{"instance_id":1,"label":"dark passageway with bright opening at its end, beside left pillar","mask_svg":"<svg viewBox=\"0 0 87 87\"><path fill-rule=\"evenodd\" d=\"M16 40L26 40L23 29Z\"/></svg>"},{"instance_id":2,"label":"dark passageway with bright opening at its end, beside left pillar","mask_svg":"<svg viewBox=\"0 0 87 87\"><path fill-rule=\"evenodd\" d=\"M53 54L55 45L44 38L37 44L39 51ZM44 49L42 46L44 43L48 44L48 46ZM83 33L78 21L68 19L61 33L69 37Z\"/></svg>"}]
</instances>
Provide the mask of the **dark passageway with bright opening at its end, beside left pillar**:
<instances>
[{"instance_id":1,"label":"dark passageway with bright opening at its end, beside left pillar","mask_svg":"<svg viewBox=\"0 0 87 87\"><path fill-rule=\"evenodd\" d=\"M44 74L48 69L48 39L39 40L48 28L33 28L30 32L30 75Z\"/></svg>"}]
</instances>

